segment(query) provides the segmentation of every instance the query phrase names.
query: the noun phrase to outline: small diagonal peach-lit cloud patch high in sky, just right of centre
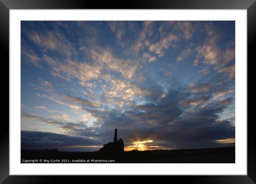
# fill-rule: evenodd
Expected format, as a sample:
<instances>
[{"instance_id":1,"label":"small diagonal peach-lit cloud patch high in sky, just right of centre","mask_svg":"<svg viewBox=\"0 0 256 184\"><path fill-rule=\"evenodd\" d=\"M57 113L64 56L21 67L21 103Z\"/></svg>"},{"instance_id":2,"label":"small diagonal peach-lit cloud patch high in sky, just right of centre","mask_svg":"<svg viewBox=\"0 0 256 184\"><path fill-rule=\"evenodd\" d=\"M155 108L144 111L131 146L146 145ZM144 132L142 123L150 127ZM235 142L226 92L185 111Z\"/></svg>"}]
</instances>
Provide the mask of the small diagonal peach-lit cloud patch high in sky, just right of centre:
<instances>
[{"instance_id":1,"label":"small diagonal peach-lit cloud patch high in sky, just right of centre","mask_svg":"<svg viewBox=\"0 0 256 184\"><path fill-rule=\"evenodd\" d=\"M178 40L177 36L170 33L168 36L157 41L155 44L152 44L149 47L149 51L156 52L157 55L161 57L164 55L164 50L167 50L171 46L171 44L177 40Z\"/></svg>"}]
</instances>

